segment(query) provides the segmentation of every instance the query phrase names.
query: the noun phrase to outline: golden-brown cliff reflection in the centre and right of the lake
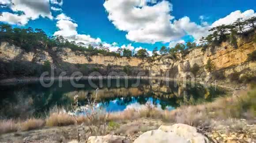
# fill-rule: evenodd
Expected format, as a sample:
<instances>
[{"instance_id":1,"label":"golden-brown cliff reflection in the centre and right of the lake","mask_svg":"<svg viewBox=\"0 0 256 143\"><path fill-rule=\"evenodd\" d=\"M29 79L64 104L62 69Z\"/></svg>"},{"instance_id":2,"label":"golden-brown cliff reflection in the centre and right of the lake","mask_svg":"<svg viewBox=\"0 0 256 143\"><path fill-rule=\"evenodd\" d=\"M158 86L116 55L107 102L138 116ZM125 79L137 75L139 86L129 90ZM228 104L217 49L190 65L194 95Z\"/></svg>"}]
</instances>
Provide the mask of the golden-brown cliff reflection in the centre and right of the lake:
<instances>
[{"instance_id":1,"label":"golden-brown cliff reflection in the centre and right of the lake","mask_svg":"<svg viewBox=\"0 0 256 143\"><path fill-rule=\"evenodd\" d=\"M146 104L149 98L152 98L153 104L160 104L162 107L179 107L182 104L194 105L209 102L213 100L213 97L222 94L223 91L219 89L215 91L211 87L204 88L199 84L192 86L191 84L184 84L182 82L177 83L177 85L169 82L169 85L166 85L162 81L152 82L151 85L144 84L138 87L102 88L98 90L97 97L95 90L81 90L65 95L70 98L78 95L79 102L83 105L86 104L88 93L92 93L93 98L97 98L98 102L104 104L109 104L109 102L114 100L117 100L117 103L120 105L128 105L133 102Z\"/></svg>"}]
</instances>

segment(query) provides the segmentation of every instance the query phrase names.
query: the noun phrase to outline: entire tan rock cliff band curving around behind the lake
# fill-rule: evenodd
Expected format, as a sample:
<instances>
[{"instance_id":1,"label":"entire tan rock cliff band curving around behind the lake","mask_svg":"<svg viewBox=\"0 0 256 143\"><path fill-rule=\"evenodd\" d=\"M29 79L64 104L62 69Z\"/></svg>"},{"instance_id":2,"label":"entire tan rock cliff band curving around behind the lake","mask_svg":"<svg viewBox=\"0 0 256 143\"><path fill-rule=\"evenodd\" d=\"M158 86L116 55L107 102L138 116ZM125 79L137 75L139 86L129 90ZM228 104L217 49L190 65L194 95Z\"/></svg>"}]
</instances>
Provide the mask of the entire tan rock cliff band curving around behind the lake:
<instances>
[{"instance_id":1,"label":"entire tan rock cliff band curving around behind the lake","mask_svg":"<svg viewBox=\"0 0 256 143\"><path fill-rule=\"evenodd\" d=\"M23 60L43 64L48 60L53 64L63 61L71 64L100 64L103 66L132 66L150 71L152 76L166 76L180 78L186 76L194 64L200 66L200 76L209 75L203 66L211 59L216 70L222 71L225 76L233 72L256 71L255 62L247 62L248 54L256 50L256 43L252 41L253 35L237 38L237 48L230 42L223 42L219 46L208 47L206 51L192 49L185 57L177 54L177 57L164 55L141 59L136 57L113 57L102 55L88 55L85 52L72 51L69 48L37 49L26 53L23 49L9 43L0 44L0 57L4 61Z\"/></svg>"}]
</instances>

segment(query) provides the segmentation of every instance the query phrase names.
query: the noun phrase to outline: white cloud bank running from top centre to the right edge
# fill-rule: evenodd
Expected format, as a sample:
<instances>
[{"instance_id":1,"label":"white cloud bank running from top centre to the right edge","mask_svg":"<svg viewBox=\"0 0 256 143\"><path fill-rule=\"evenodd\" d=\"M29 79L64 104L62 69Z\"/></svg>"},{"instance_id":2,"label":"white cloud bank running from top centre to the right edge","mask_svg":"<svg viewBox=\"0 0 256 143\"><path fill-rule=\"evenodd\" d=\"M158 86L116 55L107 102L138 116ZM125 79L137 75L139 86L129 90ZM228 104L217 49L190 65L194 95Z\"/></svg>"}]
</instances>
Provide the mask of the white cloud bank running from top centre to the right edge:
<instances>
[{"instance_id":1,"label":"white cloud bank running from top centre to the right edge","mask_svg":"<svg viewBox=\"0 0 256 143\"><path fill-rule=\"evenodd\" d=\"M193 36L196 42L202 36L207 36L212 27L230 24L237 18L256 16L253 10L245 12L234 11L225 18L218 19L212 25L204 21L200 15L201 24L189 17L173 20L170 12L173 5L163 0L154 5L147 5L147 0L106 0L103 4L108 12L109 21L119 30L126 31L126 38L140 43L175 42L185 35Z\"/></svg>"}]
</instances>

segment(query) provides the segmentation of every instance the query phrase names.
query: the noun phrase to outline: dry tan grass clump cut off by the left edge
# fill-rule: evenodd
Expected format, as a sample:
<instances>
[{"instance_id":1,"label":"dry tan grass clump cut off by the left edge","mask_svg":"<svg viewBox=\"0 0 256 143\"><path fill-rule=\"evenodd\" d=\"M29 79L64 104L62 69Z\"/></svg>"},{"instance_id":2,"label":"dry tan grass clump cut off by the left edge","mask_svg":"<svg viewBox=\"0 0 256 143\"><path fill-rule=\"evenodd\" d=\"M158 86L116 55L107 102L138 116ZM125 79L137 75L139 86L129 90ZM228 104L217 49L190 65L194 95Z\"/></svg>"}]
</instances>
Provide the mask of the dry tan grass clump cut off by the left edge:
<instances>
[{"instance_id":1,"label":"dry tan grass clump cut off by the left edge","mask_svg":"<svg viewBox=\"0 0 256 143\"><path fill-rule=\"evenodd\" d=\"M0 134L8 132L16 132L19 129L18 125L13 120L0 121Z\"/></svg>"}]
</instances>

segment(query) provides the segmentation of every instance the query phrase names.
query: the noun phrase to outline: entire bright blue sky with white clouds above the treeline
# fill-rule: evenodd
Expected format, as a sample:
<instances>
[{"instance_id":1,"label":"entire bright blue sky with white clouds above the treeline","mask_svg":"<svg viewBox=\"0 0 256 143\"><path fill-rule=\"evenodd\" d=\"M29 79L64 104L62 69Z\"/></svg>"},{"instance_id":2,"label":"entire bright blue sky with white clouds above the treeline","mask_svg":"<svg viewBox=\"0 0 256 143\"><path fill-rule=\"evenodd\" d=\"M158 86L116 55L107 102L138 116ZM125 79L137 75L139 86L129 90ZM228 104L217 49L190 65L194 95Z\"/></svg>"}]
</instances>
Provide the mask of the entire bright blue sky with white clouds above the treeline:
<instances>
[{"instance_id":1,"label":"entire bright blue sky with white clouds above the treeline","mask_svg":"<svg viewBox=\"0 0 256 143\"><path fill-rule=\"evenodd\" d=\"M123 45L129 49L143 47L148 50L163 45L172 47L176 43L198 40L208 34L211 26L256 15L255 0L158 0L157 3L147 0L148 3L143 5L138 5L140 0L109 0L108 3L105 0L60 0L62 4L56 0L26 1L0 0L1 12L4 13L0 21L18 27L41 28L49 35L60 31L57 33L70 40L101 42L113 49ZM38 10L39 7L45 8ZM135 7L139 9L135 10ZM17 11L23 11L23 14L17 14ZM113 14L113 18L108 18L109 13ZM66 17L56 19L59 14ZM56 25L58 22L59 25ZM73 29L67 28L70 25ZM79 36L71 38L72 33Z\"/></svg>"}]
</instances>

